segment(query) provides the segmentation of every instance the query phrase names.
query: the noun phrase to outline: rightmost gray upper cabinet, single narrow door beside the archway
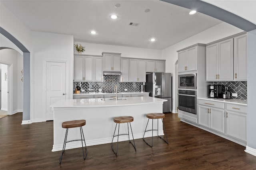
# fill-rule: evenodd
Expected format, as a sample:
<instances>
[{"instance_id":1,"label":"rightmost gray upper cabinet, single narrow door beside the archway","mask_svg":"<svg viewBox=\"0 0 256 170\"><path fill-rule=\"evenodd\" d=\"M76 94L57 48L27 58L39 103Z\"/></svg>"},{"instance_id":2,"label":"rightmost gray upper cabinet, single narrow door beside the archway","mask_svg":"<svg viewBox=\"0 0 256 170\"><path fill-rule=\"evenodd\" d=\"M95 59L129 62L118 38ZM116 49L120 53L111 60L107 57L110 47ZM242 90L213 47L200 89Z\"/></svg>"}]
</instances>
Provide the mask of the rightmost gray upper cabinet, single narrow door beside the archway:
<instances>
[{"instance_id":1,"label":"rightmost gray upper cabinet, single narrow door beside the archway","mask_svg":"<svg viewBox=\"0 0 256 170\"><path fill-rule=\"evenodd\" d=\"M247 80L247 35L234 37L234 80Z\"/></svg>"}]
</instances>

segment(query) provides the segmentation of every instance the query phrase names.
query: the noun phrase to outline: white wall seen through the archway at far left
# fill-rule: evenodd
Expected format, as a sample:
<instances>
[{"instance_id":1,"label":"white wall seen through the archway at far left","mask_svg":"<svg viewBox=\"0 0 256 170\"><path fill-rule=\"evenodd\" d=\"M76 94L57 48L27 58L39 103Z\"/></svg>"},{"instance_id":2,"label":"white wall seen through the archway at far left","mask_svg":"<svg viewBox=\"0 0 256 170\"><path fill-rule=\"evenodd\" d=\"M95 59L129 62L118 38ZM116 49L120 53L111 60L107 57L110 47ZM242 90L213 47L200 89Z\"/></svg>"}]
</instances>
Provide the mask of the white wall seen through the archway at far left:
<instances>
[{"instance_id":1,"label":"white wall seen through the archway at far left","mask_svg":"<svg viewBox=\"0 0 256 170\"><path fill-rule=\"evenodd\" d=\"M23 86L22 82L20 80L20 71L23 69L23 57L18 51L14 49L2 49L0 50L0 56L2 62L6 62L9 64L12 64L12 98L13 98L13 109L12 113L21 112L23 110L23 100L20 100L23 98ZM8 77L11 75L8 74ZM9 89L10 91L11 89ZM6 97L7 99L7 97ZM3 102L3 100L2 100ZM7 100L5 101L7 102ZM7 108L7 107L6 107Z\"/></svg>"}]
</instances>

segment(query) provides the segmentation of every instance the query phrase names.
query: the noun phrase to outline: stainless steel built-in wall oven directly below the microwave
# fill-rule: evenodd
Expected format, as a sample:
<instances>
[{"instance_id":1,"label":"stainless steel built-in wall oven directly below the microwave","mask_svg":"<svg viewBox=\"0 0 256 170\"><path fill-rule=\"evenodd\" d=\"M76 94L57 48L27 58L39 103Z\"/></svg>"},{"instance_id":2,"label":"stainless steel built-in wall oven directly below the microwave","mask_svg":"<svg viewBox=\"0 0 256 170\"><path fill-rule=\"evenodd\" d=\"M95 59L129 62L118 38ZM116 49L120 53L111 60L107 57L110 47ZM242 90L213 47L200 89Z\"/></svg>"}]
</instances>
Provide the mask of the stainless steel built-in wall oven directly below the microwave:
<instances>
[{"instance_id":1,"label":"stainless steel built-in wall oven directly below the microwave","mask_svg":"<svg viewBox=\"0 0 256 170\"><path fill-rule=\"evenodd\" d=\"M196 114L196 91L178 90L178 109Z\"/></svg>"}]
</instances>

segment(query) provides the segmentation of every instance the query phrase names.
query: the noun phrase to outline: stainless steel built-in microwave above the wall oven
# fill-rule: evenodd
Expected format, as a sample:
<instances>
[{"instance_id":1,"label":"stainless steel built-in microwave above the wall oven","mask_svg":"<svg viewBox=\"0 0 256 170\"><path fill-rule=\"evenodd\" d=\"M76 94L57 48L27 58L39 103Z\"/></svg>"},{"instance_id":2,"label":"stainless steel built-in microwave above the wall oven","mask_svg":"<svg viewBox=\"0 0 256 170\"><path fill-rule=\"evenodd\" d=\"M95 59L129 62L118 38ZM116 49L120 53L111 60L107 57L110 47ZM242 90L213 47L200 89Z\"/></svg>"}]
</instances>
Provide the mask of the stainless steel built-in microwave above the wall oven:
<instances>
[{"instance_id":1,"label":"stainless steel built-in microwave above the wall oven","mask_svg":"<svg viewBox=\"0 0 256 170\"><path fill-rule=\"evenodd\" d=\"M196 73L181 74L178 77L180 89L196 89Z\"/></svg>"}]
</instances>

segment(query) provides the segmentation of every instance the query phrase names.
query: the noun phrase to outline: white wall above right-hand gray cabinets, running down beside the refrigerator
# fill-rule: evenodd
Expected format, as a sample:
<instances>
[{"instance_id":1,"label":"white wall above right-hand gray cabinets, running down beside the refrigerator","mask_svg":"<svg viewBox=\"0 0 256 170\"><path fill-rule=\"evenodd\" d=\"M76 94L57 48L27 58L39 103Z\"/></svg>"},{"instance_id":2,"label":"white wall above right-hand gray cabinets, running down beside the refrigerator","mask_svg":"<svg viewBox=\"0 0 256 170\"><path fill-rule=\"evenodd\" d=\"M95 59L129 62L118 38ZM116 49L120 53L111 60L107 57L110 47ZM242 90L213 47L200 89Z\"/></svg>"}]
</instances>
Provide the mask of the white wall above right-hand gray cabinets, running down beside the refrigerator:
<instances>
[{"instance_id":1,"label":"white wall above right-hand gray cabinets, running down beside the refrigerator","mask_svg":"<svg viewBox=\"0 0 256 170\"><path fill-rule=\"evenodd\" d=\"M243 30L238 29L237 27L234 27L233 25L230 25L228 23L219 23L218 25L215 25L214 27L211 27L209 29L206 29L205 31L202 31L201 33L198 33L192 37L189 37L188 39L185 39L183 41L180 41L179 43L176 43L175 45L172 45L170 47L167 47L166 49L162 50L162 59L166 60L166 72L172 72L173 78L172 80L175 80L175 63L178 60L178 53L177 51L183 48L186 48L190 45L194 45L196 43L203 43L207 44L212 41L216 41L218 39L222 39L225 37L228 37L230 35L234 35L236 33L240 33ZM172 94L175 94L175 89L177 89L178 83L173 82L172 83ZM172 97L172 112L177 113L177 106L175 105L175 97L176 95L173 95Z\"/></svg>"}]
</instances>

